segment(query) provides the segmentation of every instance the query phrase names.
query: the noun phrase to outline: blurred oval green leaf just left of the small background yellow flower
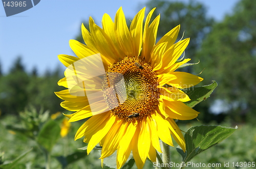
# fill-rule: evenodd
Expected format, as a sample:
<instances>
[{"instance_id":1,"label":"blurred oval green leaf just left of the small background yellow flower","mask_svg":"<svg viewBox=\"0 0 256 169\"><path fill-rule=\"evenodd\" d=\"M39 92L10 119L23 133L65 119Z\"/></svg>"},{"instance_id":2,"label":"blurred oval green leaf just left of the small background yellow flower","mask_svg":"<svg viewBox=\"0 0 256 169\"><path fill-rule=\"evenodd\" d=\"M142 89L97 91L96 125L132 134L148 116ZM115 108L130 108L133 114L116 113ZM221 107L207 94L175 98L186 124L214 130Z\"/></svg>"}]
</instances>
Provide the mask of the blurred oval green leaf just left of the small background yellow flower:
<instances>
[{"instance_id":1,"label":"blurred oval green leaf just left of the small background yellow flower","mask_svg":"<svg viewBox=\"0 0 256 169\"><path fill-rule=\"evenodd\" d=\"M49 120L42 126L37 137L37 143L51 152L53 146L60 136L59 124L53 120Z\"/></svg>"}]
</instances>

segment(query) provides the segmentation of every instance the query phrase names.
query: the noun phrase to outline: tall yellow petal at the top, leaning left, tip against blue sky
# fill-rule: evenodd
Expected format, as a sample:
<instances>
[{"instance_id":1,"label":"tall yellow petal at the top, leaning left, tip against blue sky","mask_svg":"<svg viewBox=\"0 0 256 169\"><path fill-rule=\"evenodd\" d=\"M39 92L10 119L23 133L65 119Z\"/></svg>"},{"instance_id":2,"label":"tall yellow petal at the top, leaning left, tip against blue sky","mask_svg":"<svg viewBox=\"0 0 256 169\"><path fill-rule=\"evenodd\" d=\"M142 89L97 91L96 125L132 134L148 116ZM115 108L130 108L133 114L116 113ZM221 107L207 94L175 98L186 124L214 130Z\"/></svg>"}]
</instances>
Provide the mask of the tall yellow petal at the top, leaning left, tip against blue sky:
<instances>
[{"instance_id":1,"label":"tall yellow petal at the top, leaning left, tip against blue sky","mask_svg":"<svg viewBox=\"0 0 256 169\"><path fill-rule=\"evenodd\" d=\"M119 46L127 57L135 56L135 49L133 48L132 35L129 31L122 7L118 9L115 16L115 35Z\"/></svg>"}]
</instances>

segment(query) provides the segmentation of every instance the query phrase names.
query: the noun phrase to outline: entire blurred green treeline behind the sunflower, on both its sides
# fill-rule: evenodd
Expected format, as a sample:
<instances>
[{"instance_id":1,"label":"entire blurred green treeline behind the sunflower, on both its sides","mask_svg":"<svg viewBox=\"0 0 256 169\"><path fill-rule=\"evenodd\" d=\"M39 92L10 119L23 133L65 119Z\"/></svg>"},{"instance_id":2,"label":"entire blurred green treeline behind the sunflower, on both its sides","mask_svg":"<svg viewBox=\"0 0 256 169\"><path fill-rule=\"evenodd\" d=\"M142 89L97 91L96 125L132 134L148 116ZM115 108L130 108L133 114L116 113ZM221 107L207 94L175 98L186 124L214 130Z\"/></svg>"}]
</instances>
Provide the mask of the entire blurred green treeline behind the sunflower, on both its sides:
<instances>
[{"instance_id":1,"label":"entire blurred green treeline behind the sunflower, on both its sides","mask_svg":"<svg viewBox=\"0 0 256 169\"><path fill-rule=\"evenodd\" d=\"M219 86L210 98L195 109L202 112L199 120L233 123L252 122L256 118L256 1L241 0L232 13L217 22L207 17L203 4L151 0L143 7L154 7L154 15L161 13L158 38L181 24L178 40L190 37L185 58L198 65L182 71L200 74L201 85L216 80ZM142 6L141 6L142 8ZM88 23L83 22L84 24ZM87 26L87 24L86 24ZM76 38L82 41L82 37ZM1 72L0 72L1 74ZM51 112L63 111L61 100L54 94L63 88L57 81L63 77L58 68L44 76L36 70L27 73L20 59L7 75L0 75L0 109L2 115L17 114L29 104ZM212 114L217 112L218 114Z\"/></svg>"}]
</instances>

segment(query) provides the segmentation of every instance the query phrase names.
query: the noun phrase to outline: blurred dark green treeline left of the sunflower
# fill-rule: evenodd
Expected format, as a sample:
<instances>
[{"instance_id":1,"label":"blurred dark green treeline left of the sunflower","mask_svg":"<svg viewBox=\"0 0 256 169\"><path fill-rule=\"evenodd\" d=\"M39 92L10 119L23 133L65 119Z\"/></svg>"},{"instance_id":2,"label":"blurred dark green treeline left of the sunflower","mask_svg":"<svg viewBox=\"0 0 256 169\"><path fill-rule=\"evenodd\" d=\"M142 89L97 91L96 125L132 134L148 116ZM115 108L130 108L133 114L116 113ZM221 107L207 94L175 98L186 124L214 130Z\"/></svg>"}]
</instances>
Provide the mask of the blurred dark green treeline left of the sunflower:
<instances>
[{"instance_id":1,"label":"blurred dark green treeline left of the sunflower","mask_svg":"<svg viewBox=\"0 0 256 169\"><path fill-rule=\"evenodd\" d=\"M57 81L63 77L63 70L57 67L54 71L46 71L38 76L36 68L25 71L22 58L13 62L8 74L0 75L0 111L1 116L18 115L26 107L33 106L37 110L43 108L53 114L63 111L61 99L54 92L63 90Z\"/></svg>"}]
</instances>

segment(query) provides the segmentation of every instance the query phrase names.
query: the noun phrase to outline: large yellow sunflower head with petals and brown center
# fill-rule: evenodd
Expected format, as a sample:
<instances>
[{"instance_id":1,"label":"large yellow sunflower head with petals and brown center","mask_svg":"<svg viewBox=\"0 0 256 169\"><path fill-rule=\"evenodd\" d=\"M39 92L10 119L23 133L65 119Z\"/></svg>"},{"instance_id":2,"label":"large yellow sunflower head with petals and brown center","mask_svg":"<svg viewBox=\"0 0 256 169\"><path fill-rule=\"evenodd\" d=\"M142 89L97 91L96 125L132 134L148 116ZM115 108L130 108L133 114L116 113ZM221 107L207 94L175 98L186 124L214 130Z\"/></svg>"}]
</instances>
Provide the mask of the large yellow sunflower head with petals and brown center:
<instances>
[{"instance_id":1,"label":"large yellow sunflower head with petals and brown center","mask_svg":"<svg viewBox=\"0 0 256 169\"><path fill-rule=\"evenodd\" d=\"M70 111L69 122L89 118L78 129L75 140L84 137L87 153L99 144L101 161L117 151L117 168L131 152L138 168L146 158L156 161L162 152L159 139L174 146L172 137L185 151L185 140L174 120L190 120L199 112L183 102L189 97L181 90L197 85L203 78L175 71L190 59L179 60L189 38L176 39L180 25L157 43L158 15L151 23L152 9L143 20L140 10L127 27L122 8L114 22L102 17L102 28L89 19L90 32L82 24L86 45L70 40L77 55L58 55L66 67L58 85L68 88L56 95Z\"/></svg>"}]
</instances>

